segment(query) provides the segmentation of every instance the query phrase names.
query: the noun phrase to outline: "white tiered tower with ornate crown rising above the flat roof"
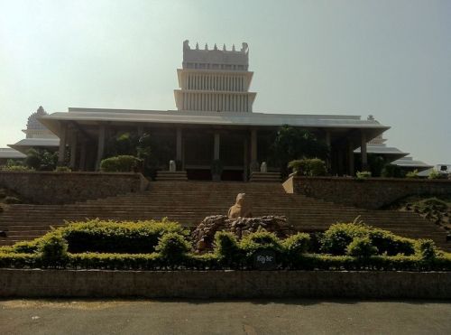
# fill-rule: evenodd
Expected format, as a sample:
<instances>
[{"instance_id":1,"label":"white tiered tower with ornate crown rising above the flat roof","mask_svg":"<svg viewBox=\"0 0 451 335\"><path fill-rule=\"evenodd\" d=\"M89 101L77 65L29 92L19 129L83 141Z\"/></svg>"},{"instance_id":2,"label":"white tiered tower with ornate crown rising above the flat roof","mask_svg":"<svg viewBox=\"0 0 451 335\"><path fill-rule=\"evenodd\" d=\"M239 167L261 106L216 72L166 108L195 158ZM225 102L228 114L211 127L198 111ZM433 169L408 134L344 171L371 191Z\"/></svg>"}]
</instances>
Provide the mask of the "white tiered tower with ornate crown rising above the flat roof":
<instances>
[{"instance_id":1,"label":"white tiered tower with ornate crown rising above the flat roof","mask_svg":"<svg viewBox=\"0 0 451 335\"><path fill-rule=\"evenodd\" d=\"M177 70L179 88L174 90L180 111L252 112L256 93L249 92L253 72L248 71L249 49L199 50L183 42L183 66Z\"/></svg>"}]
</instances>

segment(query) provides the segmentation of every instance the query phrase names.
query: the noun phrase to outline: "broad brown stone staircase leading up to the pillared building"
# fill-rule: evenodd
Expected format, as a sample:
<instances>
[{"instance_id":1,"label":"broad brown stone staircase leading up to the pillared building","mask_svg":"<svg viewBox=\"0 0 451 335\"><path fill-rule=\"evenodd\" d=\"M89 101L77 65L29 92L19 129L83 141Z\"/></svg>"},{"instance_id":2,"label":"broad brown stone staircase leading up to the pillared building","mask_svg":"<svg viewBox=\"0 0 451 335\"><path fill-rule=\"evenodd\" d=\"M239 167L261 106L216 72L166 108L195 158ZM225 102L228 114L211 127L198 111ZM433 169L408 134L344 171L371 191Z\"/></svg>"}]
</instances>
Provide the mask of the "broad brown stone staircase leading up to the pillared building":
<instances>
[{"instance_id":1,"label":"broad brown stone staircase leading up to the pillared building","mask_svg":"<svg viewBox=\"0 0 451 335\"><path fill-rule=\"evenodd\" d=\"M149 191L128 193L68 205L10 205L0 213L0 245L40 237L65 220L161 219L167 217L186 227L196 226L209 215L226 214L239 192L253 206L253 216L285 215L301 231L325 230L336 221L360 216L373 227L391 230L404 237L432 238L437 247L451 250L446 231L419 216L400 211L368 210L286 193L280 183L154 181Z\"/></svg>"}]
</instances>

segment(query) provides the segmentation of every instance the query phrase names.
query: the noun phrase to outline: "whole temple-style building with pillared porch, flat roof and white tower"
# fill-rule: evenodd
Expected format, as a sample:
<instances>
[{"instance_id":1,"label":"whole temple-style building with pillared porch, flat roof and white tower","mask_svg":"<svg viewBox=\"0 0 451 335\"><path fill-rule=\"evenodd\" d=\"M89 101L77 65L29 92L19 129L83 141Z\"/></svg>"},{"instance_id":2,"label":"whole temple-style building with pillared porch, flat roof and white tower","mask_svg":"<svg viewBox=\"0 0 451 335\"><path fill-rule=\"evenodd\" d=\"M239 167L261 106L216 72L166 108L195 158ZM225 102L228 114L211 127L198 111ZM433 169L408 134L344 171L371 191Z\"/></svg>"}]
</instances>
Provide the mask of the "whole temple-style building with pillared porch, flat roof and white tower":
<instances>
[{"instance_id":1,"label":"whole temple-style building with pillared porch, flat roof and white tower","mask_svg":"<svg viewBox=\"0 0 451 335\"><path fill-rule=\"evenodd\" d=\"M69 151L73 170L97 171L109 139L124 132L146 133L166 148L161 170L174 160L189 179L205 180L211 178L212 163L220 161L223 179L237 181L247 181L251 167L268 162L272 135L283 125L306 129L324 140L334 175L354 175L362 169L368 149L387 152L381 136L389 127L373 117L253 112L256 93L250 90L253 72L247 43L239 50L226 50L226 45L222 50L216 45L201 50L185 41L177 76L177 110L69 107L69 112L48 115L40 107L29 118L26 138L10 146L22 153L30 147L58 150L60 163ZM391 154L393 160L405 155L398 149ZM362 166L355 166L355 157ZM277 168L270 165L269 171Z\"/></svg>"}]
</instances>

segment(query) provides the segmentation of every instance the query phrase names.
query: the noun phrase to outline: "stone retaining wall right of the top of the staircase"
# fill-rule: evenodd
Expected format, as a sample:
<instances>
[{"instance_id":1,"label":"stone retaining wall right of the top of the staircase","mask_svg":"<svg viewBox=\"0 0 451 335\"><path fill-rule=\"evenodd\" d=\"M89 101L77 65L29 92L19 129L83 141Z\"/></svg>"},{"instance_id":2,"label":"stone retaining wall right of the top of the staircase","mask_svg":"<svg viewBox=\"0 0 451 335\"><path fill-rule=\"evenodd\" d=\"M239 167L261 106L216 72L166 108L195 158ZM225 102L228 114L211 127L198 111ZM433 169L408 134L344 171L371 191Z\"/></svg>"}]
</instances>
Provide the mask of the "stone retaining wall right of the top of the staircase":
<instances>
[{"instance_id":1,"label":"stone retaining wall right of the top of the staircase","mask_svg":"<svg viewBox=\"0 0 451 335\"><path fill-rule=\"evenodd\" d=\"M451 181L447 180L291 176L283 187L288 193L364 209L380 209L410 195L451 194Z\"/></svg>"}]
</instances>

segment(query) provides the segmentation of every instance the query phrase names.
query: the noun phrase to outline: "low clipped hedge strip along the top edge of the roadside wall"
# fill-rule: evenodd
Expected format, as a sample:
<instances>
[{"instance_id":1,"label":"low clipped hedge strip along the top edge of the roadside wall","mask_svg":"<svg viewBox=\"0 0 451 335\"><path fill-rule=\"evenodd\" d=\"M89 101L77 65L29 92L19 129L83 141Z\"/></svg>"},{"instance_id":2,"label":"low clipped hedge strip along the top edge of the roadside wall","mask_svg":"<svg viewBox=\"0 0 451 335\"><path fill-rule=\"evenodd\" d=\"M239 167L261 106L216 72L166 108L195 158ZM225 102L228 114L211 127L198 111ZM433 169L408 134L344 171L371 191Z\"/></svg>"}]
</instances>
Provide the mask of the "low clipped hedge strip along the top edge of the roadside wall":
<instances>
[{"instance_id":1,"label":"low clipped hedge strip along the top edge of the roadside wall","mask_svg":"<svg viewBox=\"0 0 451 335\"><path fill-rule=\"evenodd\" d=\"M39 254L0 253L1 268L68 268L102 270L251 270L248 267L230 267L216 254L187 254L179 261L169 263L160 254L68 254L58 266L49 264ZM451 271L451 256L424 259L420 256L330 256L304 254L290 264L280 265L285 270L333 270L333 271Z\"/></svg>"}]
</instances>

